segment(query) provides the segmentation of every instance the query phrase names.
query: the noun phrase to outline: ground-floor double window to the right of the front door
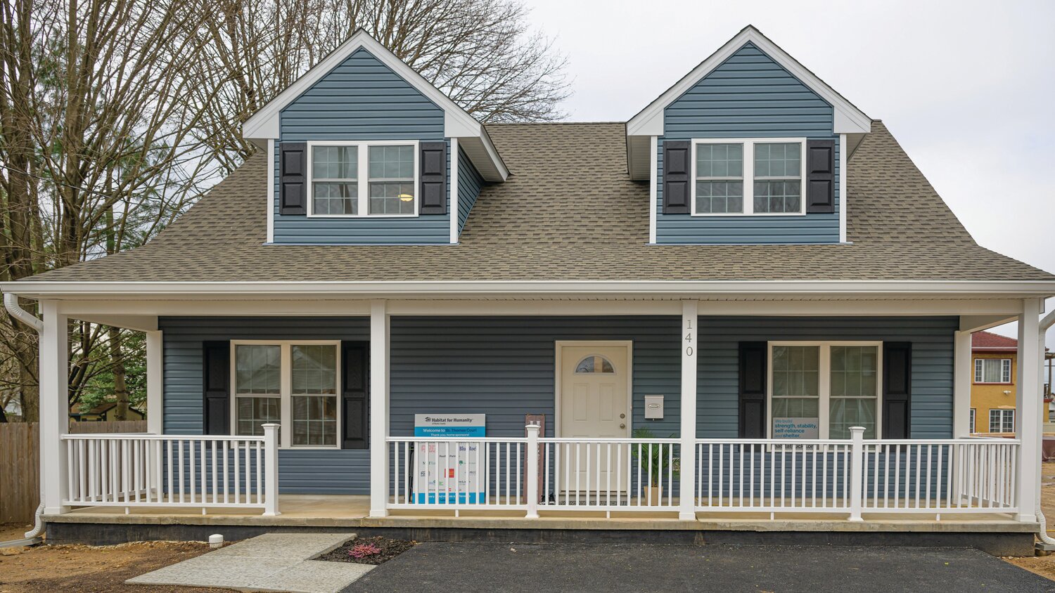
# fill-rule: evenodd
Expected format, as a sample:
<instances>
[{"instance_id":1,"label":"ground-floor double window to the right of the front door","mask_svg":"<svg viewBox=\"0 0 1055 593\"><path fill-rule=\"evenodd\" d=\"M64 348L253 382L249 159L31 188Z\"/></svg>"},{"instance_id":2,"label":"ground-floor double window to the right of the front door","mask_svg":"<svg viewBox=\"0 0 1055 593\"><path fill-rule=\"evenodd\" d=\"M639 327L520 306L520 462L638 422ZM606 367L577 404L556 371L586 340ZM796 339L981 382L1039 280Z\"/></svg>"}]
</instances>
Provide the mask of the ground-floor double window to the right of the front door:
<instances>
[{"instance_id":1,"label":"ground-floor double window to the right of the front door","mask_svg":"<svg viewBox=\"0 0 1055 593\"><path fill-rule=\"evenodd\" d=\"M786 427L817 427L799 438L849 438L864 427L877 438L882 421L883 343L879 341L769 342L769 435ZM783 430L776 430L783 429ZM816 433L816 434L814 434Z\"/></svg>"}]
</instances>

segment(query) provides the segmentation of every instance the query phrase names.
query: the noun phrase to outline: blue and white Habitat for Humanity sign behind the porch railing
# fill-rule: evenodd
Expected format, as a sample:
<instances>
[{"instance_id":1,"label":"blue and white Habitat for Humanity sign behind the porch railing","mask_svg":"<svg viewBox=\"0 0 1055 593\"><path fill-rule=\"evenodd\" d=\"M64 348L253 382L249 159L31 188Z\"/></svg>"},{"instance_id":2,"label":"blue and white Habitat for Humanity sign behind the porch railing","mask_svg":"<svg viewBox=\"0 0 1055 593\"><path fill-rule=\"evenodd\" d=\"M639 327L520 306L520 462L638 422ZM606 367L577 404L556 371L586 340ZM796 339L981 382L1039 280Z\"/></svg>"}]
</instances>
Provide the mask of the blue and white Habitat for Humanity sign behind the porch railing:
<instances>
[{"instance_id":1,"label":"blue and white Habitat for Humanity sign behind the porch railing","mask_svg":"<svg viewBox=\"0 0 1055 593\"><path fill-rule=\"evenodd\" d=\"M486 436L486 414L415 414L414 436ZM415 501L419 505L484 502L486 449L472 440L417 442ZM479 468L483 468L483 475Z\"/></svg>"}]
</instances>

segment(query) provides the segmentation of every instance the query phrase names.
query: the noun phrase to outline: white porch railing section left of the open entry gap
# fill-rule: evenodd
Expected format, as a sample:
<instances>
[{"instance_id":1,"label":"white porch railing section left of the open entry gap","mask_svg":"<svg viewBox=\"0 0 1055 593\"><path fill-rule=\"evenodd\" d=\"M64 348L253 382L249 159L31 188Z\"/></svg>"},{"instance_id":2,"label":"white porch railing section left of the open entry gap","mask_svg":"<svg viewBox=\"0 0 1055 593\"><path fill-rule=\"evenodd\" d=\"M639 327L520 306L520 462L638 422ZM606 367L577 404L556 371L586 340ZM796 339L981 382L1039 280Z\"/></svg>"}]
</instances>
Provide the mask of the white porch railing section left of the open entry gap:
<instances>
[{"instance_id":1,"label":"white porch railing section left of the open entry gap","mask_svg":"<svg viewBox=\"0 0 1055 593\"><path fill-rule=\"evenodd\" d=\"M263 509L279 514L279 426L264 436L66 434L69 507Z\"/></svg>"}]
</instances>

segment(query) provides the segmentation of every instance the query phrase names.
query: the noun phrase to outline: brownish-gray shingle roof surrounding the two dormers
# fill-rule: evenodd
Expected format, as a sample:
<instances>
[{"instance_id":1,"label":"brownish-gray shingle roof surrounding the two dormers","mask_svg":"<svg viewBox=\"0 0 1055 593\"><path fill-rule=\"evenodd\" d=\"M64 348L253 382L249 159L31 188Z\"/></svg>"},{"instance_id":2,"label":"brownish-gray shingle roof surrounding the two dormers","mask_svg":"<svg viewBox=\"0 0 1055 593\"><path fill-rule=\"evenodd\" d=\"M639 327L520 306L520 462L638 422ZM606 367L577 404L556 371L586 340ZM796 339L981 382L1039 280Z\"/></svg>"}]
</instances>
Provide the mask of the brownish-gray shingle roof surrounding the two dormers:
<instances>
[{"instance_id":1,"label":"brownish-gray shingle roof surrounding the two dormers","mask_svg":"<svg viewBox=\"0 0 1055 593\"><path fill-rule=\"evenodd\" d=\"M148 244L47 281L1052 280L981 248L881 122L849 160L849 245L648 245L649 187L621 123L492 124L513 176L458 245L265 245L251 157Z\"/></svg>"}]
</instances>

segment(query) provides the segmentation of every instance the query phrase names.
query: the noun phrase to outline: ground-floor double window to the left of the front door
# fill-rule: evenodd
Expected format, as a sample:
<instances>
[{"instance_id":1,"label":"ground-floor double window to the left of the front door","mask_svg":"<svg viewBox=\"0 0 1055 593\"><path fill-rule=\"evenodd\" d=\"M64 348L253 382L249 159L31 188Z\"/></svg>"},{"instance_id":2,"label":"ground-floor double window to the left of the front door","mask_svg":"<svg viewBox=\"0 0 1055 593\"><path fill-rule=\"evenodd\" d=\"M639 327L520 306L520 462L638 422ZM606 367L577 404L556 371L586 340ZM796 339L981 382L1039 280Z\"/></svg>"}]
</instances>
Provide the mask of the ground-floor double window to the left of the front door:
<instances>
[{"instance_id":1,"label":"ground-floor double window to the left of the front door","mask_svg":"<svg viewBox=\"0 0 1055 593\"><path fill-rule=\"evenodd\" d=\"M341 342L232 340L231 434L282 424L282 447L340 448Z\"/></svg>"}]
</instances>

